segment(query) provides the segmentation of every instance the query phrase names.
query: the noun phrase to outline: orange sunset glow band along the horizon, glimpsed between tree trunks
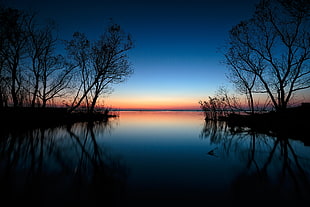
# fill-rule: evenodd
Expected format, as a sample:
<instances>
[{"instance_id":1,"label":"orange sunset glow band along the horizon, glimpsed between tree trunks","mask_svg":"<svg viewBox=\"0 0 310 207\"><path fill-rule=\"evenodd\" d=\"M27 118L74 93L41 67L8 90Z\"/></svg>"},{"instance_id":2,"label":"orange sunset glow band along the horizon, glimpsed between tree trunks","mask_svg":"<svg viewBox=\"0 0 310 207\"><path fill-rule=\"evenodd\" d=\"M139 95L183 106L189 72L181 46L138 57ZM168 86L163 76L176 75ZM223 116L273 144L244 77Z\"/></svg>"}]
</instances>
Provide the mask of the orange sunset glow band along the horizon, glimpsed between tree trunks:
<instances>
[{"instance_id":1,"label":"orange sunset glow band along the horizon, glimpsed between tree trunks","mask_svg":"<svg viewBox=\"0 0 310 207\"><path fill-rule=\"evenodd\" d=\"M310 102L309 95L310 89L303 93L299 93L292 100L294 106L300 105L304 102ZM97 101L96 107L107 107L119 110L200 110L199 101L208 101L208 97L213 96L204 95L142 95L135 94L112 94L111 96L100 97ZM52 103L51 106L65 106L65 103L70 105L71 97L66 97L68 101L64 102L63 99L59 98ZM247 100L244 96L239 96L241 106L247 107ZM264 106L268 101L265 94L255 94L254 96L255 106ZM82 103L81 106L83 106ZM270 107L272 105L269 105Z\"/></svg>"}]
</instances>

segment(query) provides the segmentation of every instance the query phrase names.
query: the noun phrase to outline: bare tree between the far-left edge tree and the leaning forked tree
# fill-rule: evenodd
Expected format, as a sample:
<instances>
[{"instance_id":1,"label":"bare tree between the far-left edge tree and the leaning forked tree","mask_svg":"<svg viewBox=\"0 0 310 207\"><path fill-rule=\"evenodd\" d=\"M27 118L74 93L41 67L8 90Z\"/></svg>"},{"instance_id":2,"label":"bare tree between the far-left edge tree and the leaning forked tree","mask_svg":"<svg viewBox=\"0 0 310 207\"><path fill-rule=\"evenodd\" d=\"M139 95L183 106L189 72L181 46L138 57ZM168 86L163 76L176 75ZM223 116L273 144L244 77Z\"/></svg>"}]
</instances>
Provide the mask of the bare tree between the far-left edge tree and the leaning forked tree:
<instances>
[{"instance_id":1,"label":"bare tree between the far-left edge tree and the leaning forked tree","mask_svg":"<svg viewBox=\"0 0 310 207\"><path fill-rule=\"evenodd\" d=\"M74 67L62 55L55 55L57 39L54 37L55 23L43 27L31 24L28 28L30 58L31 106L46 107L47 101L64 96L72 79Z\"/></svg>"}]
</instances>

